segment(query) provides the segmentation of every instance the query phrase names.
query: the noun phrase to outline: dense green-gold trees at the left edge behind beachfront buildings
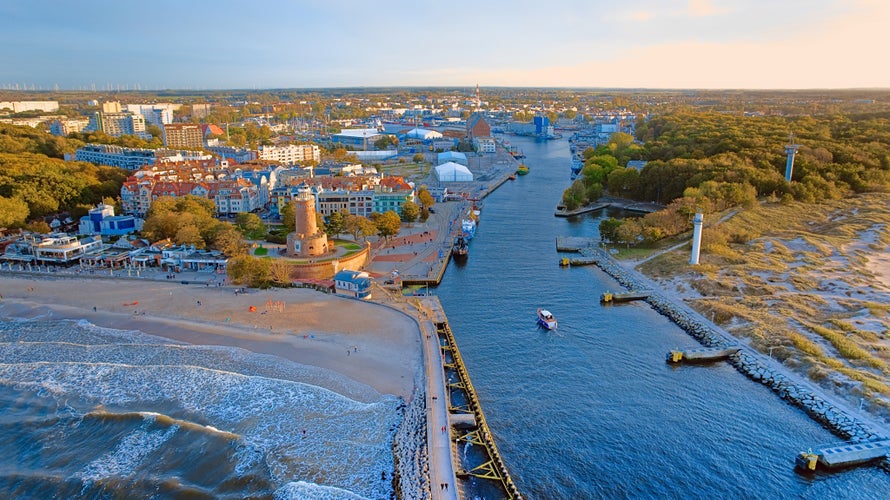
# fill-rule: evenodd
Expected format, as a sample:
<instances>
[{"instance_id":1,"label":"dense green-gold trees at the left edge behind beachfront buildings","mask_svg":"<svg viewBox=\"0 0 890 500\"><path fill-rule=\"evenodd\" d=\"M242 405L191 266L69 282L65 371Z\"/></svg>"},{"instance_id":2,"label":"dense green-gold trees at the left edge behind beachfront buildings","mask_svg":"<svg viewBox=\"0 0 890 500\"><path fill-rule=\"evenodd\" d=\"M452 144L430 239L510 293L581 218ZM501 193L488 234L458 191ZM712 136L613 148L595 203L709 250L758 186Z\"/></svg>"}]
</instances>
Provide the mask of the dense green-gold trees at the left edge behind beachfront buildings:
<instances>
[{"instance_id":1,"label":"dense green-gold trees at the left edge behind beachfront buildings","mask_svg":"<svg viewBox=\"0 0 890 500\"><path fill-rule=\"evenodd\" d=\"M42 220L67 212L73 219L98 203L114 204L127 171L61 159L64 138L30 127L0 125L0 227L31 226L49 232Z\"/></svg>"}]
</instances>

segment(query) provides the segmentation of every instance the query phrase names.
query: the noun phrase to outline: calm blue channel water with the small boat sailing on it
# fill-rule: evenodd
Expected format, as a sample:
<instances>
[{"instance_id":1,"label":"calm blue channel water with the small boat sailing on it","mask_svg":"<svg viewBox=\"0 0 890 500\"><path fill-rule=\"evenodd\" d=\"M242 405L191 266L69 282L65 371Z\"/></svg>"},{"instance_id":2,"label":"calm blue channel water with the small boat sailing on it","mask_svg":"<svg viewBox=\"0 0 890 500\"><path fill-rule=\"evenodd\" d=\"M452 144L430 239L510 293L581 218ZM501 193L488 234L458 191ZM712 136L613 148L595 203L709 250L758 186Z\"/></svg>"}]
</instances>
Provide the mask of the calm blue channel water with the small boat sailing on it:
<instances>
[{"instance_id":1,"label":"calm blue channel water with the small boat sailing on it","mask_svg":"<svg viewBox=\"0 0 890 500\"><path fill-rule=\"evenodd\" d=\"M878 466L796 472L798 452L840 438L726 362L667 364L698 343L645 302L601 305L622 289L595 266L560 267L571 254L557 236L598 238L603 218L635 214L554 217L568 141L504 138L530 172L485 198L466 263L449 264L434 293L523 496L890 498ZM536 325L539 307L557 330ZM468 484L468 498L500 495Z\"/></svg>"}]
</instances>

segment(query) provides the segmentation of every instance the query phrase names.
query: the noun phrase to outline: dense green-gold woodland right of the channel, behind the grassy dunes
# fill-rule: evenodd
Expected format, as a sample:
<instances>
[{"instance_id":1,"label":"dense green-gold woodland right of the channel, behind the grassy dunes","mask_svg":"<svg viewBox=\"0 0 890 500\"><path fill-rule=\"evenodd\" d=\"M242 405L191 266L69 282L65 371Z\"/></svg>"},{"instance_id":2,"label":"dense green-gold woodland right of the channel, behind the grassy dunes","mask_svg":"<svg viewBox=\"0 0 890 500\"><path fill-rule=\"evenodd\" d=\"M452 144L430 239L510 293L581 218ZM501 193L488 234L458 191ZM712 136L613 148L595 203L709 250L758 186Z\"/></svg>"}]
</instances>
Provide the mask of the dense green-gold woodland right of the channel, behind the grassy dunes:
<instances>
[{"instance_id":1,"label":"dense green-gold woodland right of the channel, behind the grassy dunes","mask_svg":"<svg viewBox=\"0 0 890 500\"><path fill-rule=\"evenodd\" d=\"M664 213L623 228L620 221L602 226L605 239L628 245L687 230L695 211L750 205L758 197L812 203L890 191L887 113L786 118L682 112L641 121L637 142L628 137L615 134L585 151L581 177L563 196L570 210L604 192L666 204ZM785 145L792 140L798 151L788 183ZM648 163L641 171L624 168L631 159Z\"/></svg>"}]
</instances>

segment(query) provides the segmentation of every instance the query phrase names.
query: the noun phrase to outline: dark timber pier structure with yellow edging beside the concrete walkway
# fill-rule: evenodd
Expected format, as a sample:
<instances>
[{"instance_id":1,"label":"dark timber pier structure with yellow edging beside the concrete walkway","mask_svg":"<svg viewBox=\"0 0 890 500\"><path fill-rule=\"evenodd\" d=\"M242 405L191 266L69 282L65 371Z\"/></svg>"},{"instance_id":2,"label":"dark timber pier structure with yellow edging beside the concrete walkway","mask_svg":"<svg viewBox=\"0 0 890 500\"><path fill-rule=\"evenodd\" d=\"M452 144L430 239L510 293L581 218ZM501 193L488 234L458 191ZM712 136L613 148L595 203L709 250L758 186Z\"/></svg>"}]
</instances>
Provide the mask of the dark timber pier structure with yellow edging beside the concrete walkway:
<instances>
[{"instance_id":1,"label":"dark timber pier structure with yellow edging beside the concrete walkway","mask_svg":"<svg viewBox=\"0 0 890 500\"><path fill-rule=\"evenodd\" d=\"M455 461L455 474L458 478L470 476L494 481L503 490L507 498L521 499L519 489L510 477L504 465L497 445L492 438L482 412L476 390L470 381L470 374L464 366L457 348L457 342L448 326L448 320L442 311L442 305L436 297L424 297L424 308L430 313L435 325L444 377L447 381L446 405L448 408L448 430L452 441L452 458ZM472 466L461 463L458 444L468 443L478 446L485 457L482 463Z\"/></svg>"}]
</instances>

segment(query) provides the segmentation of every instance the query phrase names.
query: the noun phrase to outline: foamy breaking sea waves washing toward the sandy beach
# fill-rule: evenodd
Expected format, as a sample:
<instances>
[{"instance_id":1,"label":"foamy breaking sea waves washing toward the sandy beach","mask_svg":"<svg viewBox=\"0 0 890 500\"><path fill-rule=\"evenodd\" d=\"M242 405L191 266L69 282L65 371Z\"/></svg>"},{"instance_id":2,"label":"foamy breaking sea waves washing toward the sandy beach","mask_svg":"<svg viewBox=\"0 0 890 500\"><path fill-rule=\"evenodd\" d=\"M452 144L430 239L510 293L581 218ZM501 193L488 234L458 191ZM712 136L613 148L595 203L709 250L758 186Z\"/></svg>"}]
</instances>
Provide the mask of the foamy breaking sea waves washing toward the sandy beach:
<instances>
[{"instance_id":1,"label":"foamy breaking sea waves washing toward the sandy beach","mask_svg":"<svg viewBox=\"0 0 890 500\"><path fill-rule=\"evenodd\" d=\"M339 377L307 369L86 321L0 321L0 497L390 498L402 402L303 383Z\"/></svg>"}]
</instances>

